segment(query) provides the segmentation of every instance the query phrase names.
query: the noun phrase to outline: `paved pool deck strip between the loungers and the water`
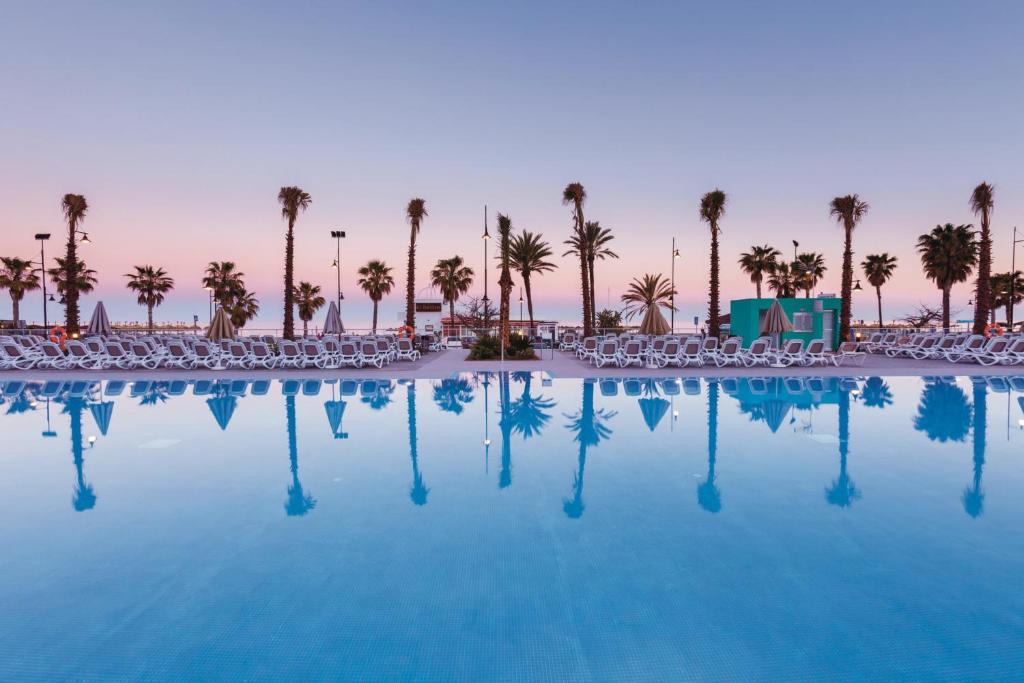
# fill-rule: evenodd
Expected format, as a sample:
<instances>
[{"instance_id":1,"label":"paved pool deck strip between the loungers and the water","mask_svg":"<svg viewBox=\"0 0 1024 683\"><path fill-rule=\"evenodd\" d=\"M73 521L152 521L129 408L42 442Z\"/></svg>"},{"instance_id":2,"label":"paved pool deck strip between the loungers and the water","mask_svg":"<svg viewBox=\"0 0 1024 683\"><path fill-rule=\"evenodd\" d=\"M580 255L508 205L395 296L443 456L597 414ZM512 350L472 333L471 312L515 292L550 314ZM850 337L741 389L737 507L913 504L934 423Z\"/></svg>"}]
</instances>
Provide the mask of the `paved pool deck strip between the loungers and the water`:
<instances>
[{"instance_id":1,"label":"paved pool deck strip between the loungers and the water","mask_svg":"<svg viewBox=\"0 0 1024 683\"><path fill-rule=\"evenodd\" d=\"M460 373L531 371L547 373L554 378L600 377L886 377L1024 375L1024 367L981 366L974 362L947 362L945 360L913 360L890 358L869 354L863 366L803 368L595 368L563 351L544 352L538 360L517 360L502 364L499 360L467 360L465 350L428 353L415 362L400 361L378 370L377 368L344 368L328 370L28 370L0 371L0 382L11 380L46 379L116 379L116 380L173 380L173 379L278 379L310 377L351 377L353 379L443 379Z\"/></svg>"}]
</instances>

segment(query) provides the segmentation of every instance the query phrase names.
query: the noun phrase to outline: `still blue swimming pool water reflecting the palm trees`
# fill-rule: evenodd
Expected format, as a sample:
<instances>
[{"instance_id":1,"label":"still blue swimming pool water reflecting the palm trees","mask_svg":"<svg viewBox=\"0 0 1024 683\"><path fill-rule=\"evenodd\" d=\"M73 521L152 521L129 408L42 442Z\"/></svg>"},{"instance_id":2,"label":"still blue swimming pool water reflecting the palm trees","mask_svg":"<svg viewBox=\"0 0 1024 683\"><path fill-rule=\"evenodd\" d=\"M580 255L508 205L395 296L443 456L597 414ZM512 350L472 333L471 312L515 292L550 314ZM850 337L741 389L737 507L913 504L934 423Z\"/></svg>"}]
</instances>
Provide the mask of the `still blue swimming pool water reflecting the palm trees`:
<instances>
[{"instance_id":1,"label":"still blue swimming pool water reflecting the palm trees","mask_svg":"<svg viewBox=\"0 0 1024 683\"><path fill-rule=\"evenodd\" d=\"M1020 378L3 389L0 680L1024 671Z\"/></svg>"}]
</instances>

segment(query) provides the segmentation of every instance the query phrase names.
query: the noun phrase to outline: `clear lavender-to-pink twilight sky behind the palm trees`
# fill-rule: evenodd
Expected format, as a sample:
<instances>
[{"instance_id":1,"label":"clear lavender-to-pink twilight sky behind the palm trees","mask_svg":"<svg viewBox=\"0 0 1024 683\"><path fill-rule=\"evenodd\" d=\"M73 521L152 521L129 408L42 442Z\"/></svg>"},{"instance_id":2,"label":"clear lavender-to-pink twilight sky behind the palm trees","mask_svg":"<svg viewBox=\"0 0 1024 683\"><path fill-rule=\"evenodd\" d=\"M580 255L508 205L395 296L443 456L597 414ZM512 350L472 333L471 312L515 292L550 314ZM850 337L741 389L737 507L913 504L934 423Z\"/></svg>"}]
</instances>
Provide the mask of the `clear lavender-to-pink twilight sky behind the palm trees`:
<instances>
[{"instance_id":1,"label":"clear lavender-to-pink twilight sky behind the palm trees","mask_svg":"<svg viewBox=\"0 0 1024 683\"><path fill-rule=\"evenodd\" d=\"M598 265L599 306L634 275L667 273L675 236L689 319L707 296L703 193L729 196L726 302L753 295L735 261L755 243L822 252L821 289L838 291L828 202L858 193L871 208L857 261L900 258L885 291L895 316L938 302L913 243L938 222L973 221L981 180L996 188L994 267L1009 269L1013 225L1024 228L1022 31L1020 2L8 2L0 254L36 253L37 231L56 238L61 195L81 193L100 278L85 315L102 299L114 319L144 317L122 273L150 263L177 280L158 318L205 319L203 268L233 260L263 303L251 327L270 327L276 194L298 184L313 204L297 227L297 278L330 298L329 231L346 229L346 322L369 321L354 270L370 258L395 266L382 309L394 322L410 198L430 214L426 284L453 254L480 270L484 204L560 246L561 189L579 180L588 219L613 228L622 256ZM558 261L537 282L537 312L577 321L579 269ZM959 288L954 306L970 296ZM854 315L873 310L865 291Z\"/></svg>"}]
</instances>

